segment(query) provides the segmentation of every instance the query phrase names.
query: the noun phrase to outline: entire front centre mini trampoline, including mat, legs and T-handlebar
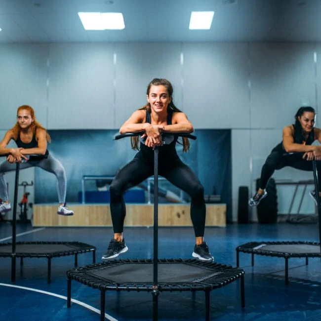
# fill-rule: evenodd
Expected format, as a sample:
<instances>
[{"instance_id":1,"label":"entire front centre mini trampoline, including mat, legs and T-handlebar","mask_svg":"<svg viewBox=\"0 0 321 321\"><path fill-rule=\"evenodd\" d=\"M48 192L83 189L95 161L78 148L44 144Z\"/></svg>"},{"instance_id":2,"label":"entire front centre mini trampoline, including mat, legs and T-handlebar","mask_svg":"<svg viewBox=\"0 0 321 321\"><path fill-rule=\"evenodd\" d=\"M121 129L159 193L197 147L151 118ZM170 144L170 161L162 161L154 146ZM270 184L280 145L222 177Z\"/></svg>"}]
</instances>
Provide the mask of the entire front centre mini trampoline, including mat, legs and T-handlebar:
<instances>
[{"instance_id":1,"label":"entire front centre mini trampoline, including mat, legs and T-handlebar","mask_svg":"<svg viewBox=\"0 0 321 321\"><path fill-rule=\"evenodd\" d=\"M115 139L141 135L121 134ZM196 139L190 134L176 134ZM169 144L173 135L163 136ZM105 320L105 293L114 291L147 291L153 296L153 320L158 320L158 296L164 291L204 291L205 320L210 320L211 290L241 279L241 306L245 306L244 271L240 268L196 259L158 258L158 148L154 150L154 251L153 259L109 260L106 262L72 269L67 272L67 307L71 307L71 281L100 290L100 320Z\"/></svg>"}]
</instances>

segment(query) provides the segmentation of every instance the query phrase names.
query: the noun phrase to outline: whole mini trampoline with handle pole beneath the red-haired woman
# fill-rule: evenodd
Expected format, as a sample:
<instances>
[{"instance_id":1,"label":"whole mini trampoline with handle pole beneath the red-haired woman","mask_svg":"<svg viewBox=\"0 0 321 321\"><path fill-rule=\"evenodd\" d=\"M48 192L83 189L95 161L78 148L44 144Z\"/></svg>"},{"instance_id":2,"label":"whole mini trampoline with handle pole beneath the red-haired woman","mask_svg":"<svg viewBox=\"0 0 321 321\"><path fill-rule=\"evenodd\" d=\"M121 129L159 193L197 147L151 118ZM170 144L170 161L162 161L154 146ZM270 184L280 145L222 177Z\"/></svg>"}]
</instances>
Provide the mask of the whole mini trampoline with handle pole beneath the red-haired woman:
<instances>
[{"instance_id":1,"label":"whole mini trampoline with handle pole beneath the red-haired woman","mask_svg":"<svg viewBox=\"0 0 321 321\"><path fill-rule=\"evenodd\" d=\"M2 155L3 156L3 155ZM33 155L35 156L35 155ZM19 183L20 163L16 163L13 215L12 215L12 243L0 243L0 257L11 257L11 282L16 281L16 258L20 257L20 265L23 258L47 258L48 273L47 281L51 282L51 258L75 255L75 266L78 265L78 254L92 252L93 263L95 263L96 247L81 242L16 242L16 218L17 197Z\"/></svg>"}]
</instances>

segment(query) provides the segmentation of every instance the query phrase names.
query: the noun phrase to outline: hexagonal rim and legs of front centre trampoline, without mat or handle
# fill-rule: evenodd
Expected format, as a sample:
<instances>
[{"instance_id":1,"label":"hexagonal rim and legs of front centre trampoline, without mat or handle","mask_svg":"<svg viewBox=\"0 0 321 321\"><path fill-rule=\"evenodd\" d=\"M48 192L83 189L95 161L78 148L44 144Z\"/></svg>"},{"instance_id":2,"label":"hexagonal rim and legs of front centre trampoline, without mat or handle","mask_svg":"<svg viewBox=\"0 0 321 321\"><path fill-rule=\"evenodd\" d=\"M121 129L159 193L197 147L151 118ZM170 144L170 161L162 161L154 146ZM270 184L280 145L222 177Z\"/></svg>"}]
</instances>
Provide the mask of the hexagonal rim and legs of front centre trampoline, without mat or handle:
<instances>
[{"instance_id":1,"label":"hexagonal rim and legs of front centre trampoline, without mat or handle","mask_svg":"<svg viewBox=\"0 0 321 321\"><path fill-rule=\"evenodd\" d=\"M100 320L105 320L105 308L106 308L106 291L147 291L152 292L153 297L159 295L160 292L174 292L174 291L204 291L205 292L205 320L210 320L210 291L221 288L233 281L241 279L241 307L245 307L245 294L244 294L244 271L240 268L233 268L231 266L213 263L213 262L201 262L196 259L158 259L157 263L182 263L195 267L204 267L207 270L216 272L213 275L204 277L200 281L194 282L158 282L157 288L155 288L153 282L127 282L120 283L112 280L108 280L102 277L93 276L92 271L99 270L101 268L112 268L127 263L139 263L139 264L154 264L152 259L126 259L126 260L111 260L103 263L97 263L95 265L89 265L83 268L73 269L67 272L67 307L71 307L71 281L76 280L82 284L88 285L92 288L100 290ZM157 311L153 311L153 320L157 320Z\"/></svg>"}]
</instances>

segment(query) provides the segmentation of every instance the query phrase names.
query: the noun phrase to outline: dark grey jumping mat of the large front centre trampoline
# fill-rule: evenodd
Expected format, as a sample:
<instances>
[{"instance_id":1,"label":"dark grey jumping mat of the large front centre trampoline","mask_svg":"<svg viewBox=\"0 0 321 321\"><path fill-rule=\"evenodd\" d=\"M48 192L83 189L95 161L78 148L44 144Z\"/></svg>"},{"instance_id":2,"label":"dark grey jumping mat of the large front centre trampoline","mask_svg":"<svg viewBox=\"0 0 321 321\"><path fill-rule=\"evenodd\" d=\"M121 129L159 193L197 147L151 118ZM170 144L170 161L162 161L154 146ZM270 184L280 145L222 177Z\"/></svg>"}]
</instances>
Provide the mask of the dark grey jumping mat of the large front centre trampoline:
<instances>
[{"instance_id":1,"label":"dark grey jumping mat of the large front centre trampoline","mask_svg":"<svg viewBox=\"0 0 321 321\"><path fill-rule=\"evenodd\" d=\"M116 283L153 283L153 265L153 263L129 263L101 268L91 271L90 274ZM165 283L201 282L221 273L222 271L215 272L184 263L158 264L158 281Z\"/></svg>"}]
</instances>

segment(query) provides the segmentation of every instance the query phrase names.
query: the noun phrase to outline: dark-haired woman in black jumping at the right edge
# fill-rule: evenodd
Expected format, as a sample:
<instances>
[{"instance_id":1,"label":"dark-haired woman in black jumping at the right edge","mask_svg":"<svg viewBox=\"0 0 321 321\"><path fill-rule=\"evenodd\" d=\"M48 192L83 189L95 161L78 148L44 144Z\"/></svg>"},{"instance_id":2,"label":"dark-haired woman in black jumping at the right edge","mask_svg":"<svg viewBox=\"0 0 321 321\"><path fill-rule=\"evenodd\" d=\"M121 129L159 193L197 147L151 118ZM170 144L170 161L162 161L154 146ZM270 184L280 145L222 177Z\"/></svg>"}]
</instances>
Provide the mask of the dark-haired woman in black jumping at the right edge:
<instances>
[{"instance_id":1,"label":"dark-haired woman in black jumping at the right edge","mask_svg":"<svg viewBox=\"0 0 321 321\"><path fill-rule=\"evenodd\" d=\"M316 111L312 107L301 107L295 114L295 123L283 128L283 139L265 161L260 179L260 188L249 200L250 206L256 206L267 196L265 191L268 181L276 169L291 166L301 170L312 171L312 160L321 160L321 146L311 145L315 140L321 142L321 129L315 128ZM301 152L301 154L284 155L285 153ZM318 164L318 172L320 170ZM321 177L319 175L319 177ZM321 179L319 179L321 191ZM310 192L317 203L316 191ZM321 193L319 193L321 196Z\"/></svg>"}]
</instances>

